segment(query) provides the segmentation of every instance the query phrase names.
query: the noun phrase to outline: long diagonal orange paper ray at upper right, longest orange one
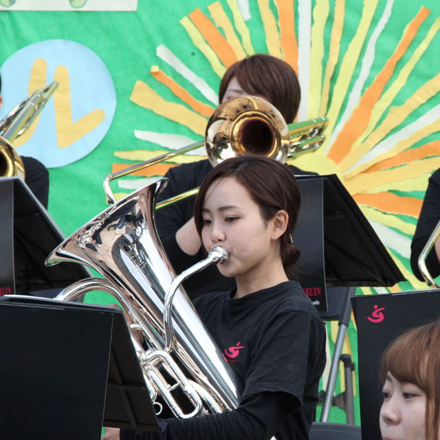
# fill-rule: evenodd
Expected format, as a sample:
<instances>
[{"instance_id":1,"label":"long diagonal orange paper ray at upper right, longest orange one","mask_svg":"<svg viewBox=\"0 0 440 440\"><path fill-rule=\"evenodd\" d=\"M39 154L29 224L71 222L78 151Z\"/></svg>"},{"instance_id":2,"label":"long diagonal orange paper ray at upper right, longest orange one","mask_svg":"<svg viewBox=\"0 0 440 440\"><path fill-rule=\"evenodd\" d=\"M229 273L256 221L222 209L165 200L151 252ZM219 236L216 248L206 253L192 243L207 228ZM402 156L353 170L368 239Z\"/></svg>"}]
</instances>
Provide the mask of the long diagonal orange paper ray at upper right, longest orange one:
<instances>
[{"instance_id":1,"label":"long diagonal orange paper ray at upper right, longest orange one","mask_svg":"<svg viewBox=\"0 0 440 440\"><path fill-rule=\"evenodd\" d=\"M333 160L336 164L339 164L342 159L349 154L355 140L357 140L360 135L362 135L364 129L366 129L374 104L380 98L386 83L388 83L388 80L390 80L393 75L397 62L405 54L406 50L408 50L410 43L417 34L423 21L428 17L429 13L430 11L424 7L419 10L417 16L408 26L404 37L397 46L397 49L386 62L384 69L382 69L382 72L376 76L373 84L366 89L358 107L353 111L353 115L351 115L351 118L344 125L344 128L339 133L335 142L333 142L327 157Z\"/></svg>"}]
</instances>

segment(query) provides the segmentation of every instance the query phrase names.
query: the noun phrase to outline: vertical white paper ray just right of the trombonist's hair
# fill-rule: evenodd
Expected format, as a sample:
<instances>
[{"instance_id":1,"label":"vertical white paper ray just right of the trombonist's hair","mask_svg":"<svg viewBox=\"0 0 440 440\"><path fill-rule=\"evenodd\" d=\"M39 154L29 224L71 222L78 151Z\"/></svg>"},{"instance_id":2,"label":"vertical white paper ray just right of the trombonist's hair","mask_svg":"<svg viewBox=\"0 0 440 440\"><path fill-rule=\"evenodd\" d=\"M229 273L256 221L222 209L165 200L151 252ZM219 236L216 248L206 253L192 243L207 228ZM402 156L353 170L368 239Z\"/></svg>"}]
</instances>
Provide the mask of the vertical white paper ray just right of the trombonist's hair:
<instances>
[{"instance_id":1,"label":"vertical white paper ray just right of the trombonist's hair","mask_svg":"<svg viewBox=\"0 0 440 440\"><path fill-rule=\"evenodd\" d=\"M301 87L301 102L298 120L309 119L309 83L311 56L311 1L298 1L298 79Z\"/></svg>"}]
</instances>

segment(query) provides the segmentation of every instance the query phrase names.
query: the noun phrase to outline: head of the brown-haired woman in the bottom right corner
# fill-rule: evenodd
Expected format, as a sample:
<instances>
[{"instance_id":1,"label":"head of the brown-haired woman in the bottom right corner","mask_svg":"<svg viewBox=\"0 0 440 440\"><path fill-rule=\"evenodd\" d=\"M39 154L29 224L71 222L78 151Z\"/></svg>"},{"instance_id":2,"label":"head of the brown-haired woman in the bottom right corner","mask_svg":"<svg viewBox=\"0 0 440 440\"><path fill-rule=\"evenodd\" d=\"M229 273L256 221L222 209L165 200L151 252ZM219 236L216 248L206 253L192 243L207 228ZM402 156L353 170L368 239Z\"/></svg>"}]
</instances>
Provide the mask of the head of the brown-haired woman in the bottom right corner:
<instances>
[{"instance_id":1,"label":"head of the brown-haired woman in the bottom right corner","mask_svg":"<svg viewBox=\"0 0 440 440\"><path fill-rule=\"evenodd\" d=\"M440 320L399 336L382 356L384 439L439 440Z\"/></svg>"}]
</instances>

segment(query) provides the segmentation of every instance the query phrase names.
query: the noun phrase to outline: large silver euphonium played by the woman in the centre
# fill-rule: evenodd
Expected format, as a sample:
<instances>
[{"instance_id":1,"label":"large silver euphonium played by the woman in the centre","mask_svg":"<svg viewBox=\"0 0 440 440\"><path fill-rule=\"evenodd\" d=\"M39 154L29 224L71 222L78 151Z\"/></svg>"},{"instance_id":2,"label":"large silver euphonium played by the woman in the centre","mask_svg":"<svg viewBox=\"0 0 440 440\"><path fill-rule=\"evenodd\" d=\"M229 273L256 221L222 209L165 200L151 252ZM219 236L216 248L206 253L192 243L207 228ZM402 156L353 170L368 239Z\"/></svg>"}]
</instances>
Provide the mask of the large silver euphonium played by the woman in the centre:
<instances>
[{"instance_id":1,"label":"large silver euphonium played by the woman in the centre","mask_svg":"<svg viewBox=\"0 0 440 440\"><path fill-rule=\"evenodd\" d=\"M162 395L177 417L223 412L239 405L241 391L180 283L227 255L221 249L212 250L206 260L175 275L154 222L156 197L165 184L166 179L158 179L114 203L61 243L46 264L74 261L104 276L78 281L56 299L74 300L91 290L102 290L118 299L133 322L129 326L133 344L153 401ZM151 349L144 350L137 342L137 331ZM181 372L171 353L192 377ZM175 383L166 383L159 366ZM177 386L194 406L189 413L172 395Z\"/></svg>"}]
</instances>

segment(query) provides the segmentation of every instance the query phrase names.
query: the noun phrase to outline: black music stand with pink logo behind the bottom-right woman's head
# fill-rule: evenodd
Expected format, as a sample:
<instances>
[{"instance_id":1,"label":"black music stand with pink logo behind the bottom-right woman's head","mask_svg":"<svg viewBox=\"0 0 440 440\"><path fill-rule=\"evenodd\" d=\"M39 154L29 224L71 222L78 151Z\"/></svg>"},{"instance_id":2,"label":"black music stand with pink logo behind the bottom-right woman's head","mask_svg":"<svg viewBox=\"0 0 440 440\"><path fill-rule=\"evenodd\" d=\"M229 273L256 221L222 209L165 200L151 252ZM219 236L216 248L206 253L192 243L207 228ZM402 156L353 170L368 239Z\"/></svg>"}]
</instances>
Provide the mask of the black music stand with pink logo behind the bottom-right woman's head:
<instances>
[{"instance_id":1,"label":"black music stand with pink logo behind the bottom-right woman's head","mask_svg":"<svg viewBox=\"0 0 440 440\"><path fill-rule=\"evenodd\" d=\"M354 296L351 303L358 329L362 439L382 440L379 428L383 401L379 377L382 353L405 331L439 319L439 290L359 295Z\"/></svg>"}]
</instances>

